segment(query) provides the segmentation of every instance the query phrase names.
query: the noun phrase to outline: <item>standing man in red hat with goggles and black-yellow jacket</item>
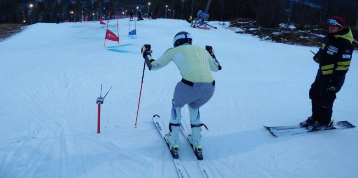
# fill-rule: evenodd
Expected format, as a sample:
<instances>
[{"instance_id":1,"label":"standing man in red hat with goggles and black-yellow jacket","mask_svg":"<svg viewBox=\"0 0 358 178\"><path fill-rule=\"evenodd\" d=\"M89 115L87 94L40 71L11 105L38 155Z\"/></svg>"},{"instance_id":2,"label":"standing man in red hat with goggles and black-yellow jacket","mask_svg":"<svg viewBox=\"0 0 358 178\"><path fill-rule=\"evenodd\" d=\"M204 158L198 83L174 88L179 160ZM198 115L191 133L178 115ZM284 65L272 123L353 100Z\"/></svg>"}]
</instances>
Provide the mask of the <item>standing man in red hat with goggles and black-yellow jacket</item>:
<instances>
[{"instance_id":1,"label":"standing man in red hat with goggles and black-yellow jacket","mask_svg":"<svg viewBox=\"0 0 358 178\"><path fill-rule=\"evenodd\" d=\"M349 69L353 53L353 35L344 27L344 19L333 16L325 25L329 33L322 40L322 46L313 57L320 64L316 79L309 90L312 100L312 115L300 123L311 130L328 129L332 126L332 107L336 93L341 89Z\"/></svg>"}]
</instances>

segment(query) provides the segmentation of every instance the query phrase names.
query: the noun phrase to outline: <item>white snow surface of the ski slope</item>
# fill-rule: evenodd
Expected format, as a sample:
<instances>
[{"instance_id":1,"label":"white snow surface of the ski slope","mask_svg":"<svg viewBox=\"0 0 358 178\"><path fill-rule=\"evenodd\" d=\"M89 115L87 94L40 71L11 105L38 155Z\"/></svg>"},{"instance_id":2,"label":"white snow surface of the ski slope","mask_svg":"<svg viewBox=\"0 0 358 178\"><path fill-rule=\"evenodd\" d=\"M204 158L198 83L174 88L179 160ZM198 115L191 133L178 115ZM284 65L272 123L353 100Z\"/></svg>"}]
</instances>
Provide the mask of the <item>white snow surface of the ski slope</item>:
<instances>
[{"instance_id":1,"label":"white snow surface of the ski slope","mask_svg":"<svg viewBox=\"0 0 358 178\"><path fill-rule=\"evenodd\" d=\"M154 59L187 31L193 45L211 45L223 70L201 111L204 159L215 178L357 178L358 129L276 138L262 126L294 125L310 116L308 90L318 65L310 50L218 29L190 28L184 20L119 20L120 46L106 41L99 22L37 23L0 42L0 178L176 178L151 117L169 124L171 99L181 75L173 63L144 74ZM133 25L133 23L132 23ZM109 29L116 33L116 21ZM353 54L333 119L358 125L358 54ZM101 106L96 98L113 86ZM102 97L103 97L102 95ZM188 108L182 116L189 126ZM166 128L167 129L167 128ZM192 178L202 177L185 138L180 159Z\"/></svg>"}]
</instances>

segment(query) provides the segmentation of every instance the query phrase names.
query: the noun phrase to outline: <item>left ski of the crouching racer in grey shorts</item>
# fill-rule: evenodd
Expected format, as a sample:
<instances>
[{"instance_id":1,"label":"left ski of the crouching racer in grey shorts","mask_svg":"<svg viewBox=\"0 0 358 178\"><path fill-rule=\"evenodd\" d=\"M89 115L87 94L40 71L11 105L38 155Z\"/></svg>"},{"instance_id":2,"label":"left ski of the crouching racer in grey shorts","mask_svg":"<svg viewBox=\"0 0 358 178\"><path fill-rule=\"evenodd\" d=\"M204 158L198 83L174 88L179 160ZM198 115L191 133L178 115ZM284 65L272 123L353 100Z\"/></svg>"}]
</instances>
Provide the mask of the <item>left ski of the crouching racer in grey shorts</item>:
<instances>
[{"instance_id":1,"label":"left ski of the crouching racer in grey shorts","mask_svg":"<svg viewBox=\"0 0 358 178\"><path fill-rule=\"evenodd\" d=\"M165 141L164 137L167 134L167 132L165 131L164 127L163 127L163 123L162 120L160 119L159 115L155 114L153 115L153 122L155 127L158 129L160 136L162 137L166 147L168 148L168 151L171 154L171 158L174 162L175 168L176 168L176 172L178 173L180 178L189 178L187 171L184 169L184 166L182 164L182 162L179 160L179 155L177 155L178 157L175 158L175 156L173 155L173 153L171 152L167 142Z\"/></svg>"}]
</instances>

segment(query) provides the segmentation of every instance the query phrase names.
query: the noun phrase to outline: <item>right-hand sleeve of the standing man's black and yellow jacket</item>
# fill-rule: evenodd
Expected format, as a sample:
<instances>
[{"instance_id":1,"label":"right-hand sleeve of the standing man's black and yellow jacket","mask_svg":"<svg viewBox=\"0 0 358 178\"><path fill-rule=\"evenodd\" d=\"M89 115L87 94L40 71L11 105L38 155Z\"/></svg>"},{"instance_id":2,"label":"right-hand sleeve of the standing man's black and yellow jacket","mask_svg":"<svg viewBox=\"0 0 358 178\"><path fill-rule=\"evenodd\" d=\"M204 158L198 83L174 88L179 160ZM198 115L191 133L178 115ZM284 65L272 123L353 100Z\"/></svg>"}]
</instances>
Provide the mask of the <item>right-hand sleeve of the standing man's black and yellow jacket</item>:
<instances>
[{"instance_id":1,"label":"right-hand sleeve of the standing man's black and yellow jacket","mask_svg":"<svg viewBox=\"0 0 358 178\"><path fill-rule=\"evenodd\" d=\"M352 53L353 47L350 43L345 43L341 48L339 48L337 64L335 64L336 67L331 78L333 85L343 85L345 74L349 70L349 66L351 64Z\"/></svg>"}]
</instances>

